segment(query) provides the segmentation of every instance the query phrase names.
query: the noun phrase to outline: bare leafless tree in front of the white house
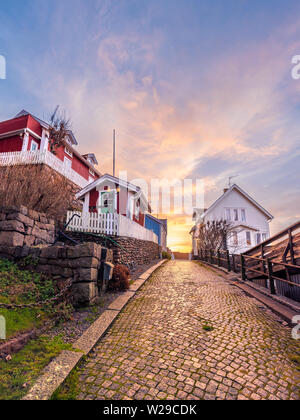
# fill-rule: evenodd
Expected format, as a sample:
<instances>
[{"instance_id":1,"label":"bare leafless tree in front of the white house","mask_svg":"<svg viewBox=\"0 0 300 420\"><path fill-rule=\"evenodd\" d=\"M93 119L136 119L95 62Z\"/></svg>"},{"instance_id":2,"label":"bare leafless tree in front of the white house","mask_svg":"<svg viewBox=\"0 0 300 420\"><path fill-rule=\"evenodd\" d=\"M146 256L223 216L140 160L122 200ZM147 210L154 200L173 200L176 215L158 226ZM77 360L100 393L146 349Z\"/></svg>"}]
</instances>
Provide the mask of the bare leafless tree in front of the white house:
<instances>
[{"instance_id":1,"label":"bare leafless tree in front of the white house","mask_svg":"<svg viewBox=\"0 0 300 420\"><path fill-rule=\"evenodd\" d=\"M197 234L199 247L215 251L227 249L231 228L231 223L227 220L213 220L199 224Z\"/></svg>"}]
</instances>

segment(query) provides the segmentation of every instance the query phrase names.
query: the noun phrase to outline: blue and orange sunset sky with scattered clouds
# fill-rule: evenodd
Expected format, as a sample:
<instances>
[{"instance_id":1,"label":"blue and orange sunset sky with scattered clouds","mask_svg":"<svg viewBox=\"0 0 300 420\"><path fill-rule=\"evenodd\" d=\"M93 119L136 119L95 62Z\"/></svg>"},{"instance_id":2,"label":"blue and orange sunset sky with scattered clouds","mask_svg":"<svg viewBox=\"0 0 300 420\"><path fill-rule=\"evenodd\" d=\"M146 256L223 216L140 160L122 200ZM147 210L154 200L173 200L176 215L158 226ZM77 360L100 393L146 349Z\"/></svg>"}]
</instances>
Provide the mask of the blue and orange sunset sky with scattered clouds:
<instances>
[{"instance_id":1,"label":"blue and orange sunset sky with scattered clouds","mask_svg":"<svg viewBox=\"0 0 300 420\"><path fill-rule=\"evenodd\" d=\"M129 180L228 177L275 217L300 218L298 0L11 0L0 3L0 120L65 110L78 150ZM189 251L191 216L166 215Z\"/></svg>"}]
</instances>

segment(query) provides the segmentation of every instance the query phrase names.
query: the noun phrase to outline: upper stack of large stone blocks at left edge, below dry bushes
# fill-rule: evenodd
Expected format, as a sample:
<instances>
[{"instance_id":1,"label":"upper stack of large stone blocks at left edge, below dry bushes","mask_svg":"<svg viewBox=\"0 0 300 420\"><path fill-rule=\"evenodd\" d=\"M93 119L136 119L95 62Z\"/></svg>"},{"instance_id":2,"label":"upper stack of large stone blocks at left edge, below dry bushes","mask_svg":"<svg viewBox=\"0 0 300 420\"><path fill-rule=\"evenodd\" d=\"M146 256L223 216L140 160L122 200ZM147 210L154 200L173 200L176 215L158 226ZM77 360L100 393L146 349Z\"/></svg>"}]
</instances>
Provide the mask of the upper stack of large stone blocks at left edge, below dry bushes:
<instances>
[{"instance_id":1,"label":"upper stack of large stone blocks at left edge, below dry bushes","mask_svg":"<svg viewBox=\"0 0 300 420\"><path fill-rule=\"evenodd\" d=\"M44 213L21 207L0 207L0 247L51 245L55 222Z\"/></svg>"}]
</instances>

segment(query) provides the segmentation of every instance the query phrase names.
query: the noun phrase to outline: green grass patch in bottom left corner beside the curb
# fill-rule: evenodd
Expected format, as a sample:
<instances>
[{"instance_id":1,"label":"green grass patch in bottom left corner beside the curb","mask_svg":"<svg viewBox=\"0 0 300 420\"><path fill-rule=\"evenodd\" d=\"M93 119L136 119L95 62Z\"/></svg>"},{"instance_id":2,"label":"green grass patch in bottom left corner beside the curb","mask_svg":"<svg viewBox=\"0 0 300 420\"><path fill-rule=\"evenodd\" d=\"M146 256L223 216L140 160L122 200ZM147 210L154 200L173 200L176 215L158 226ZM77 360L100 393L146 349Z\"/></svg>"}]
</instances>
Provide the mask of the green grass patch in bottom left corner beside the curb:
<instances>
[{"instance_id":1,"label":"green grass patch in bottom left corner beside the curb","mask_svg":"<svg viewBox=\"0 0 300 420\"><path fill-rule=\"evenodd\" d=\"M72 346L65 344L60 337L40 337L30 341L12 356L11 361L0 361L0 400L21 399L41 371L62 350L72 350Z\"/></svg>"}]
</instances>

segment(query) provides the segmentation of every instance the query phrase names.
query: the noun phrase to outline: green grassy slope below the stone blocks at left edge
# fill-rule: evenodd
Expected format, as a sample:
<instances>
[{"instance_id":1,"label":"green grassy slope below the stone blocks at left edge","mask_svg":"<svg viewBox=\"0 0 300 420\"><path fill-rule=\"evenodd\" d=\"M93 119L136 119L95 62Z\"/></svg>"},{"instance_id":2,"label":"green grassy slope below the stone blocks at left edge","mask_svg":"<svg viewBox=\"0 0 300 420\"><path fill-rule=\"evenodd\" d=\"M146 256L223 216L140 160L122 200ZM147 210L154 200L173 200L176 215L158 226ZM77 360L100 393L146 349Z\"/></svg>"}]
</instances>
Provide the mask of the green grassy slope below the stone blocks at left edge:
<instances>
[{"instance_id":1,"label":"green grassy slope below the stone blocks at left edge","mask_svg":"<svg viewBox=\"0 0 300 420\"><path fill-rule=\"evenodd\" d=\"M28 304L44 301L55 295L52 279L43 274L21 270L16 264L0 259L0 302ZM7 310L0 308L6 320L7 338L43 324L51 314L50 308Z\"/></svg>"}]
</instances>

